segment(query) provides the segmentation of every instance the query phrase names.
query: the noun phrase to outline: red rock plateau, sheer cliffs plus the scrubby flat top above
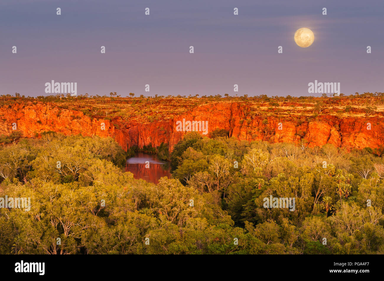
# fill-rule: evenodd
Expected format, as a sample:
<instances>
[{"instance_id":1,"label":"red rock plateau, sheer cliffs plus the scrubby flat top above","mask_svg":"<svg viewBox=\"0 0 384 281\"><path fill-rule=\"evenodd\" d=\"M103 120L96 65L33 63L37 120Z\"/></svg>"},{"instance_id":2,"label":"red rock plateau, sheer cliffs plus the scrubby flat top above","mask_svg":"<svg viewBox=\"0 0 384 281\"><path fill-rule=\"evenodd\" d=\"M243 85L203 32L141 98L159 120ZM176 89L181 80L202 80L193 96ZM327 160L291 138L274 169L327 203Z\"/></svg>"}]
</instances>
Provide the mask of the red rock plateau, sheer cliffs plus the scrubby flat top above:
<instances>
[{"instance_id":1,"label":"red rock plateau, sheer cliffs plus the scrubby flat top above","mask_svg":"<svg viewBox=\"0 0 384 281\"><path fill-rule=\"evenodd\" d=\"M172 151L187 133L177 130L178 122L185 119L209 122L207 136L223 129L238 140L305 142L308 147L329 143L346 150L379 149L384 144L381 108L365 114L361 100L347 97L314 98L314 102L200 98L190 99L187 105L177 98L70 99L4 99L0 107L0 134L10 135L12 124L16 123L17 130L28 138L39 137L44 131L111 136L124 150L132 146L156 148L164 143ZM101 123L105 123L105 130Z\"/></svg>"}]
</instances>

